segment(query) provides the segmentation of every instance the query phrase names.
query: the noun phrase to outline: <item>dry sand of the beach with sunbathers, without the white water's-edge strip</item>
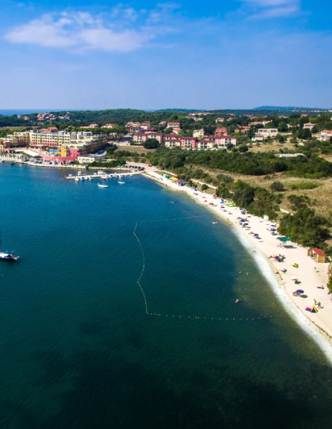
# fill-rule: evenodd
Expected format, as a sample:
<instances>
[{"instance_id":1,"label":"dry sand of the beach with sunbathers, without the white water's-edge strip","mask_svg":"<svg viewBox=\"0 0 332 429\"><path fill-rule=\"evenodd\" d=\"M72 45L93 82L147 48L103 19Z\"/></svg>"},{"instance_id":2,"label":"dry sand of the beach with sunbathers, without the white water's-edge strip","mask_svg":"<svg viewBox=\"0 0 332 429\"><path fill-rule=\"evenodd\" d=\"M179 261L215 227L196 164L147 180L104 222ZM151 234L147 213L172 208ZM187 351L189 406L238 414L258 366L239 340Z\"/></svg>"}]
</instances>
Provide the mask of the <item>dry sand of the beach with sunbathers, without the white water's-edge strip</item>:
<instances>
[{"instance_id":1,"label":"dry sand of the beach with sunbathers, without the white water's-edge strip","mask_svg":"<svg viewBox=\"0 0 332 429\"><path fill-rule=\"evenodd\" d=\"M282 295L288 297L289 302L293 304L290 313L297 319L297 316L302 316L301 319L304 322L305 320L310 321L312 326L332 342L332 295L329 295L329 289L326 286L329 278L328 263L318 264L307 256L307 248L295 243L288 241L287 246L281 246L279 239L277 239L279 235L272 235L270 231L271 225L273 225L272 221L265 221L261 217L252 215L243 216L238 207L224 206L221 208L220 198L215 199L211 194L194 191L187 186L179 186L178 183L160 176L153 168L147 168L145 176L172 188L172 190L186 192L197 203L209 208L216 217L228 223L230 228L234 228L234 232L241 241L246 237L246 243L243 244L248 250L252 251L254 256L256 253L261 253L272 267L277 279L277 286L284 292ZM212 206L212 204L214 205ZM243 227L237 219L241 216L248 219L248 228ZM259 239L255 238L254 234L258 234ZM284 255L284 261L277 262L274 258L275 255ZM298 264L298 268L293 266L295 263ZM286 273L282 273L282 270L286 270ZM297 284L292 280L292 277L298 280ZM324 289L321 289L322 286ZM297 289L302 289L304 293L299 296L293 295ZM318 303L320 303L318 306L320 308L317 307ZM306 311L306 307L313 307L313 305L318 309L317 313Z\"/></svg>"}]
</instances>

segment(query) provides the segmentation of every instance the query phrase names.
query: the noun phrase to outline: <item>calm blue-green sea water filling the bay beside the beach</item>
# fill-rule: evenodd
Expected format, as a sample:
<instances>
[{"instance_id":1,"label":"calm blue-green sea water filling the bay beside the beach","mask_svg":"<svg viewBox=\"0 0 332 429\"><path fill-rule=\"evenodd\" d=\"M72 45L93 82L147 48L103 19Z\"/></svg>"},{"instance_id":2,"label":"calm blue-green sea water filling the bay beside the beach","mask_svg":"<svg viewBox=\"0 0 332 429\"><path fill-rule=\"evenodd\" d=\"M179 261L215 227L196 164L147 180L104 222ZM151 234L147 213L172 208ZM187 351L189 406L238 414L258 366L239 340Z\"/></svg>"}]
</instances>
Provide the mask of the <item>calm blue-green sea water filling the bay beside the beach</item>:
<instances>
[{"instance_id":1,"label":"calm blue-green sea water filling the bay beside the beach","mask_svg":"<svg viewBox=\"0 0 332 429\"><path fill-rule=\"evenodd\" d=\"M0 164L1 429L331 427L331 366L230 228L66 172Z\"/></svg>"}]
</instances>

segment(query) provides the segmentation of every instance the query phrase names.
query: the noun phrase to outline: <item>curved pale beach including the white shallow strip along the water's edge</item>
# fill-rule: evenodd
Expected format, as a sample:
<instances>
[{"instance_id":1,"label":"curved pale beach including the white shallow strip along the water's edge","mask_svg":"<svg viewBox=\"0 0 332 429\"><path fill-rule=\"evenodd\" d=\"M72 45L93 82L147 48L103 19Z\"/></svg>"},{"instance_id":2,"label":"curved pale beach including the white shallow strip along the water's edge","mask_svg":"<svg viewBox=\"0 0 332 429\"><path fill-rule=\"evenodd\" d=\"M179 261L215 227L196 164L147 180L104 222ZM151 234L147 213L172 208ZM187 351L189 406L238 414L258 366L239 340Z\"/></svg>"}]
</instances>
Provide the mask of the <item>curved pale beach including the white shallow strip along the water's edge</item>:
<instances>
[{"instance_id":1,"label":"curved pale beach including the white shallow strip along the water's edge","mask_svg":"<svg viewBox=\"0 0 332 429\"><path fill-rule=\"evenodd\" d=\"M257 264L259 270L266 278L269 286L273 289L279 302L281 302L284 309L286 309L288 315L297 322L299 327L302 328L308 336L315 340L315 343L322 349L326 359L332 364L332 300L329 298L326 288L324 290L317 289L317 285L319 285L318 287L322 285L326 286L329 278L329 264L317 264L313 262L310 257L306 256L307 249L297 244L294 244L291 248L278 247L279 241L277 241L275 236L271 236L270 232L266 231L266 227L270 226L271 221L264 221L262 218L250 215L248 221L252 228L252 232L255 231L259 233L259 237L262 238L262 240L258 241L254 239L252 235L246 233L248 230L244 230L239 223L236 223L237 219L235 215L240 215L238 207L227 207L227 212L223 212L219 207L219 203L218 206L210 205L210 203L216 203L216 199L214 199L211 194L204 194L203 192L197 191L197 195L194 195L192 188L188 188L187 186L180 187L177 183L163 178L154 171L146 171L143 175L148 179L153 179L165 185L167 188L178 192L185 192L192 197L196 203L202 204L205 208L209 208L210 211L223 222L228 223L228 225L232 223L234 234L241 244L248 251L255 248L257 253L252 253L255 264ZM203 203L204 197L206 199L205 203ZM277 255L280 252L286 255L286 260L282 264L275 262L274 259L268 259L270 255ZM299 268L294 268L291 265L292 258L294 259L293 262L299 264ZM317 271L317 267L319 271ZM282 275L279 268L286 268L287 273ZM294 285L291 277L294 275L298 276L299 280L301 280L300 287L304 289L307 298L303 299L293 296L293 289L296 289L296 285ZM313 300L316 297L322 303L322 309L319 309L318 313L308 313L305 307L312 307ZM302 304L302 307L299 307L299 304Z\"/></svg>"}]
</instances>

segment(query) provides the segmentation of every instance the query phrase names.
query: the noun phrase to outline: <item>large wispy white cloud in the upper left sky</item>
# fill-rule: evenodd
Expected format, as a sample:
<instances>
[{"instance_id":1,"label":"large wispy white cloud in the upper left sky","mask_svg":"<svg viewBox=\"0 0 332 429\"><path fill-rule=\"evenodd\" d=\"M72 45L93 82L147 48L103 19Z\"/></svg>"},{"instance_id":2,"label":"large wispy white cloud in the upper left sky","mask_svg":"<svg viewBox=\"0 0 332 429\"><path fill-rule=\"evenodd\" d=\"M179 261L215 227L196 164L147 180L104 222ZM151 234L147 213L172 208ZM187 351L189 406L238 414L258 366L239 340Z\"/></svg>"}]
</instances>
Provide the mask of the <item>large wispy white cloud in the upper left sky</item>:
<instances>
[{"instance_id":1,"label":"large wispy white cloud in the upper left sky","mask_svg":"<svg viewBox=\"0 0 332 429\"><path fill-rule=\"evenodd\" d=\"M121 18L114 19L116 15ZM10 29L4 38L17 44L35 44L53 48L67 48L75 52L99 50L105 52L136 51L160 34L161 29L143 20L133 23L140 12L133 8L113 10L113 17L105 19L87 12L47 14L27 24ZM141 14L142 15L142 14ZM149 25L147 25L149 23ZM165 28L163 29L164 31Z\"/></svg>"}]
</instances>

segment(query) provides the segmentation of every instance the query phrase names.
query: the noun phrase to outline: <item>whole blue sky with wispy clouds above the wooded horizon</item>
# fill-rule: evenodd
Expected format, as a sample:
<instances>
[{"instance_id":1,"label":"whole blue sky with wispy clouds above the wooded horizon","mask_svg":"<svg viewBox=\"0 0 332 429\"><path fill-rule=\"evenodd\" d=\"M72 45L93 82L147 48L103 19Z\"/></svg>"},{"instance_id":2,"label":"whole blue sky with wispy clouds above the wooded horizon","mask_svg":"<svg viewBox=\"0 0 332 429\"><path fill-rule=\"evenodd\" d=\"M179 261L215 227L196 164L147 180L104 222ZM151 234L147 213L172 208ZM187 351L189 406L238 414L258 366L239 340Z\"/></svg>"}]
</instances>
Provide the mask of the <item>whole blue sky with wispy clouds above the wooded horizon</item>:
<instances>
[{"instance_id":1,"label":"whole blue sky with wispy clouds above the wooded horizon","mask_svg":"<svg viewBox=\"0 0 332 429\"><path fill-rule=\"evenodd\" d=\"M0 109L332 107L331 12L328 0L8 0Z\"/></svg>"}]
</instances>

